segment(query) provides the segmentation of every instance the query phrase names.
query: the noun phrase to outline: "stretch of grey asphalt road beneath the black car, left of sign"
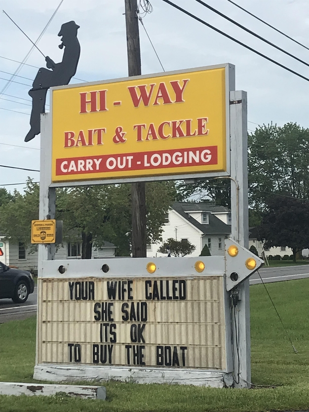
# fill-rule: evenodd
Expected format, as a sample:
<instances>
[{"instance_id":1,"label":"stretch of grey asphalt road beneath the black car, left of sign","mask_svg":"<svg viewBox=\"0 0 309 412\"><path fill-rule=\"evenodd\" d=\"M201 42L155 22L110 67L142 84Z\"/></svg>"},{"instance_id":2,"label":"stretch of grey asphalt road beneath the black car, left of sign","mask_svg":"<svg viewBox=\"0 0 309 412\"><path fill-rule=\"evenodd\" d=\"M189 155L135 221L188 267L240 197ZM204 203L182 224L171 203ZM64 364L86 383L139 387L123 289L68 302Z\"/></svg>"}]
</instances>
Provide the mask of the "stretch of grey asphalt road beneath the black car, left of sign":
<instances>
[{"instance_id":1,"label":"stretch of grey asphalt road beneath the black car, left of sign","mask_svg":"<svg viewBox=\"0 0 309 412\"><path fill-rule=\"evenodd\" d=\"M26 319L36 313L37 287L24 304L16 304L12 299L0 299L0 323L9 320Z\"/></svg>"}]
</instances>

